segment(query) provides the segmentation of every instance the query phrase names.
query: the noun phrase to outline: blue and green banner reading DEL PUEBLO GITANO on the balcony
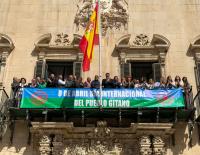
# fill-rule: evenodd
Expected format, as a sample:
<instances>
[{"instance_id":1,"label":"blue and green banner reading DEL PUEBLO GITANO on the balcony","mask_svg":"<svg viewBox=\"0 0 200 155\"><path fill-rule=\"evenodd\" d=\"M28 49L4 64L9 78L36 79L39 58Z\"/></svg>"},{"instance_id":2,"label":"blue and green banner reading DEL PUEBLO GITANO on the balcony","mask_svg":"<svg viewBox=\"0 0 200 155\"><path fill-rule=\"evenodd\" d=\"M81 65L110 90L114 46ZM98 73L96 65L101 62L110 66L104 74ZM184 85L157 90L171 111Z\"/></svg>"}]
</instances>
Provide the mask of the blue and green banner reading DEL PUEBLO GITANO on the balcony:
<instances>
[{"instance_id":1,"label":"blue and green banner reading DEL PUEBLO GITANO on the balcony","mask_svg":"<svg viewBox=\"0 0 200 155\"><path fill-rule=\"evenodd\" d=\"M174 108L184 107L182 89L24 88L21 108Z\"/></svg>"}]
</instances>

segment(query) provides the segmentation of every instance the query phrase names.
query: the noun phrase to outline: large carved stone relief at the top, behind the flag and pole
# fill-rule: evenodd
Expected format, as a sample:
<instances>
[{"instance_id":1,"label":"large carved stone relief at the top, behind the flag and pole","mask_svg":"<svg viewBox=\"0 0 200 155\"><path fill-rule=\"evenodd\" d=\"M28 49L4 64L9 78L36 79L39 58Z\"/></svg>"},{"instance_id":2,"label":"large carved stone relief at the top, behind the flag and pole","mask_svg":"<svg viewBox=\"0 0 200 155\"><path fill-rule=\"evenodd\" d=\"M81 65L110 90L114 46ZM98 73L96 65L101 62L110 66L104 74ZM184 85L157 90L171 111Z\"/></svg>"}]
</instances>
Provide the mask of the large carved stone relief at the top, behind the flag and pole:
<instances>
[{"instance_id":1,"label":"large carved stone relief at the top, behind the flag and pole","mask_svg":"<svg viewBox=\"0 0 200 155\"><path fill-rule=\"evenodd\" d=\"M78 11L74 23L78 29L80 26L86 28L95 2L95 0L81 0L77 5ZM101 9L103 35L106 34L108 28L126 29L128 23L128 4L125 0L101 0Z\"/></svg>"}]
</instances>

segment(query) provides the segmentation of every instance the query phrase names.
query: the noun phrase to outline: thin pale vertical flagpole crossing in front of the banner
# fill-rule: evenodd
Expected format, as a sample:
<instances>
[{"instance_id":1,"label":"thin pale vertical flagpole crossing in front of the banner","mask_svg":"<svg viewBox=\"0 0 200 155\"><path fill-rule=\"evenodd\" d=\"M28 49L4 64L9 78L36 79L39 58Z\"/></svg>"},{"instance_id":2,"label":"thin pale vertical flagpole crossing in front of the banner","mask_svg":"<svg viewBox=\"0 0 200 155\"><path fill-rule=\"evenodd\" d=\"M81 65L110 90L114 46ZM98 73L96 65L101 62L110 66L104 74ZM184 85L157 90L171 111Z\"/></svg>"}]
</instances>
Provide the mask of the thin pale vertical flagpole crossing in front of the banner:
<instances>
[{"instance_id":1,"label":"thin pale vertical flagpole crossing in front of the banner","mask_svg":"<svg viewBox=\"0 0 200 155\"><path fill-rule=\"evenodd\" d=\"M101 44L101 5L100 0L98 0L98 28L99 28L99 82L100 82L100 90L99 90L99 108L102 108L102 70L101 70L101 50L102 50L102 44Z\"/></svg>"}]
</instances>

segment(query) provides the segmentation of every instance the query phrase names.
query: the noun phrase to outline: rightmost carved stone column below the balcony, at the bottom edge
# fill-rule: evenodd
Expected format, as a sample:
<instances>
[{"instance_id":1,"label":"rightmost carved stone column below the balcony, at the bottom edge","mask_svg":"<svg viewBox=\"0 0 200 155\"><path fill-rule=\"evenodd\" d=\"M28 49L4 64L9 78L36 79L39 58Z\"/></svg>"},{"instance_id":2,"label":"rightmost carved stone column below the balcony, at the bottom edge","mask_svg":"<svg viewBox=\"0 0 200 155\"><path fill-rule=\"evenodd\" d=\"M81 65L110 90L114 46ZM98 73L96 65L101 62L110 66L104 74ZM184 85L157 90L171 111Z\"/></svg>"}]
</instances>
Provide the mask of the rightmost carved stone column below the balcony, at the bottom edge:
<instances>
[{"instance_id":1,"label":"rightmost carved stone column below the balcony, at the bottom edge","mask_svg":"<svg viewBox=\"0 0 200 155\"><path fill-rule=\"evenodd\" d=\"M154 136L152 143L155 155L166 155L165 143L160 136Z\"/></svg>"}]
</instances>

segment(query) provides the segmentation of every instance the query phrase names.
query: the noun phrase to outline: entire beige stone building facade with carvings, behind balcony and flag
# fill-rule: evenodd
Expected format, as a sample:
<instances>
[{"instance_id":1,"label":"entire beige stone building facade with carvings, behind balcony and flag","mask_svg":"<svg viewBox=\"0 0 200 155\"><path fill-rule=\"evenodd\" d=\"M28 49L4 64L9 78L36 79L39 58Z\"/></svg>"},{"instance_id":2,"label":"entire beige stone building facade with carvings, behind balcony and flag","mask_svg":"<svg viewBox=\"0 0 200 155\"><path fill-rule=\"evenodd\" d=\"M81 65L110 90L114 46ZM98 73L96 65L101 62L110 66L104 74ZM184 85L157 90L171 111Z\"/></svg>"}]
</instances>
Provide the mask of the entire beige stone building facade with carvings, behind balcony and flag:
<instances>
[{"instance_id":1,"label":"entire beige stone building facade with carvings, behind balcony and flag","mask_svg":"<svg viewBox=\"0 0 200 155\"><path fill-rule=\"evenodd\" d=\"M197 93L199 1L103 2L102 75L109 72L111 76L134 76L134 65L148 62L153 67L154 79L157 74L187 76L193 94ZM93 5L93 0L1 0L0 87L5 87L9 94L13 77L25 77L27 81L34 76L45 77L54 65L65 68L67 64L69 69L63 69L64 75L86 79L98 74L98 48L95 47L91 69L86 73L81 71L83 55L78 48ZM194 120L200 112L198 101L195 107ZM200 152L198 122L188 123L187 119L175 123L131 122L128 127L110 127L106 121L76 127L73 121L30 122L25 118L10 124L0 143L2 155L198 155Z\"/></svg>"}]
</instances>

